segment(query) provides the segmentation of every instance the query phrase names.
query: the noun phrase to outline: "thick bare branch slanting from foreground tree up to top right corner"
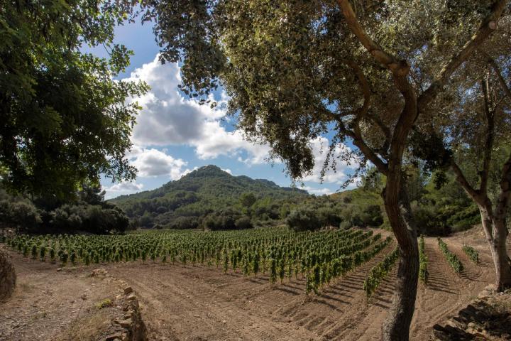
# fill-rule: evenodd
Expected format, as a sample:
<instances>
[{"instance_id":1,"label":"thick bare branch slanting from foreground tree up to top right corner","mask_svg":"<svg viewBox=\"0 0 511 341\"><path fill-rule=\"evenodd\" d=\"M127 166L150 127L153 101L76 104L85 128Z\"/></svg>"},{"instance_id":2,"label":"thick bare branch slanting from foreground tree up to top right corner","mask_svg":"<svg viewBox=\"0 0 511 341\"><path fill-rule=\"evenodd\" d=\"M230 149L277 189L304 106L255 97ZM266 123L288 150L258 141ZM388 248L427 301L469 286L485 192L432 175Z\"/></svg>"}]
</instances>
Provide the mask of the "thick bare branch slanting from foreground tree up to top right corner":
<instances>
[{"instance_id":1,"label":"thick bare branch slanting from foreground tree up to top right corner","mask_svg":"<svg viewBox=\"0 0 511 341\"><path fill-rule=\"evenodd\" d=\"M478 48L478 46L497 29L498 20L500 19L500 16L502 16L502 12L504 11L506 4L507 0L495 1L491 13L480 24L476 34L472 36L471 40L463 45L463 48L461 48L456 55L451 57L449 63L447 63L441 70L439 77L436 77L427 90L419 96L417 101L419 110L422 110L422 108L427 106L427 104L436 97L459 65L466 61L473 53L473 50L476 50L476 48Z\"/></svg>"}]
</instances>

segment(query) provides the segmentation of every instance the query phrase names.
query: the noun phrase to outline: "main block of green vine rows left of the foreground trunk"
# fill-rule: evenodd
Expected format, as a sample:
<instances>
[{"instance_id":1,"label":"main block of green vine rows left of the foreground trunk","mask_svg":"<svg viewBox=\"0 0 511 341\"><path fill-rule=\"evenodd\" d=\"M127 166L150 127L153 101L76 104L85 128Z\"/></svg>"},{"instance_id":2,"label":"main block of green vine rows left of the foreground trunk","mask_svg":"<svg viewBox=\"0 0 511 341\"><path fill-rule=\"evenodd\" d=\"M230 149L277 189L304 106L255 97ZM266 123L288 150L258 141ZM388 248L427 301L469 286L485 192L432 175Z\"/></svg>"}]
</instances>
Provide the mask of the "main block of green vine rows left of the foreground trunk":
<instances>
[{"instance_id":1,"label":"main block of green vine rows left of the foreground trunk","mask_svg":"<svg viewBox=\"0 0 511 341\"><path fill-rule=\"evenodd\" d=\"M247 231L163 231L126 235L1 236L23 256L60 266L152 261L268 274L270 284L302 276L306 293L317 293L378 254L392 239L373 231L346 229L292 232L284 227ZM396 254L397 255L397 254ZM395 256L392 256L395 261Z\"/></svg>"}]
</instances>

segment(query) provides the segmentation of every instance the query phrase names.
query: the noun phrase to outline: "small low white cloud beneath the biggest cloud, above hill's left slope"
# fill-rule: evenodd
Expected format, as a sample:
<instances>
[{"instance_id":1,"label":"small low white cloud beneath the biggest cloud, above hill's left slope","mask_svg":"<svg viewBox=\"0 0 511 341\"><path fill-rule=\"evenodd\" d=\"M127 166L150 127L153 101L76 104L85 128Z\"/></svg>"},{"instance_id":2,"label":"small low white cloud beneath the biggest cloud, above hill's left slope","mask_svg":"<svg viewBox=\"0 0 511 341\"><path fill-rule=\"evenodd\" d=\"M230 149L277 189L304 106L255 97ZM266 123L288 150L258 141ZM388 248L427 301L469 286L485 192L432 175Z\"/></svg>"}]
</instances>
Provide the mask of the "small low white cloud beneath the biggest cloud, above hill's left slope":
<instances>
[{"instance_id":1,"label":"small low white cloud beneath the biggest cloud, above hill's left slope","mask_svg":"<svg viewBox=\"0 0 511 341\"><path fill-rule=\"evenodd\" d=\"M172 180L178 180L189 173L189 169L183 169L187 162L180 158L172 158L158 149L142 149L131 161L131 165L138 169L138 176L150 178L161 175L168 175Z\"/></svg>"}]
</instances>

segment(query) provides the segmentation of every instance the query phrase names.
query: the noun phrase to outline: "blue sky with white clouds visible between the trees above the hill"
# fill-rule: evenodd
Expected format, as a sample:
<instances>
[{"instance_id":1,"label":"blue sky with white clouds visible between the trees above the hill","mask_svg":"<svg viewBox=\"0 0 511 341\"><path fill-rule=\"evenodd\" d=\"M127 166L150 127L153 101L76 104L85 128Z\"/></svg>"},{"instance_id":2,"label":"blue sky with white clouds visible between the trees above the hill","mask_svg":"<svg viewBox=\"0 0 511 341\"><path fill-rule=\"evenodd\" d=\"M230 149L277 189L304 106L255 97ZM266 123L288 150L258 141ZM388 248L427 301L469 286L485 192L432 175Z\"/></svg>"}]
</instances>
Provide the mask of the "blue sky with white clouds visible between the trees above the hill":
<instances>
[{"instance_id":1,"label":"blue sky with white clouds visible between the trees above the hill","mask_svg":"<svg viewBox=\"0 0 511 341\"><path fill-rule=\"evenodd\" d=\"M282 186L291 185L282 163L265 161L268 146L243 140L239 131L233 131L232 122L221 120L224 116L221 109L200 106L178 91L180 68L176 64L161 65L158 62L159 49L150 23L119 26L116 28L116 43L126 45L134 52L131 65L119 75L119 79L144 80L151 90L135 99L143 110L138 114L133 129L133 149L128 158L138 168L137 179L133 183L115 184L104 179L102 185L107 198L158 188L209 164L219 166L232 175L248 175L272 180ZM84 50L106 57L103 47ZM226 101L221 92L215 99ZM336 173L330 171L324 182L319 182L324 162L322 148L328 147L328 143L327 137L311 141L317 165L312 175L304 178L303 188L309 193L334 193L346 180L346 175L353 171L351 166L339 164ZM353 148L347 148L350 147ZM345 147L339 146L341 148Z\"/></svg>"}]
</instances>

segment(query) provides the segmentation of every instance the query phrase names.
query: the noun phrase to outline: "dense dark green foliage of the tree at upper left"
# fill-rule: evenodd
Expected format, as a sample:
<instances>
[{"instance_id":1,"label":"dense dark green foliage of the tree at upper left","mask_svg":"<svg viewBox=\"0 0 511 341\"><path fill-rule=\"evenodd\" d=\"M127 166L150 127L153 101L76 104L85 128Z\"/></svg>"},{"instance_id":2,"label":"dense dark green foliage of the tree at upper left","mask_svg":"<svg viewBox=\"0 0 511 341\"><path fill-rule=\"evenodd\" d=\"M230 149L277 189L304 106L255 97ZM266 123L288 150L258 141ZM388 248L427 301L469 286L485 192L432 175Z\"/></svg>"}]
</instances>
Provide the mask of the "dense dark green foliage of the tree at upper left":
<instances>
[{"instance_id":1,"label":"dense dark green foliage of the tree at upper left","mask_svg":"<svg viewBox=\"0 0 511 341\"><path fill-rule=\"evenodd\" d=\"M2 2L0 169L11 190L65 201L84 180L134 178L125 155L140 108L126 99L147 87L114 80L131 54L113 43L125 11L109 0Z\"/></svg>"}]
</instances>

